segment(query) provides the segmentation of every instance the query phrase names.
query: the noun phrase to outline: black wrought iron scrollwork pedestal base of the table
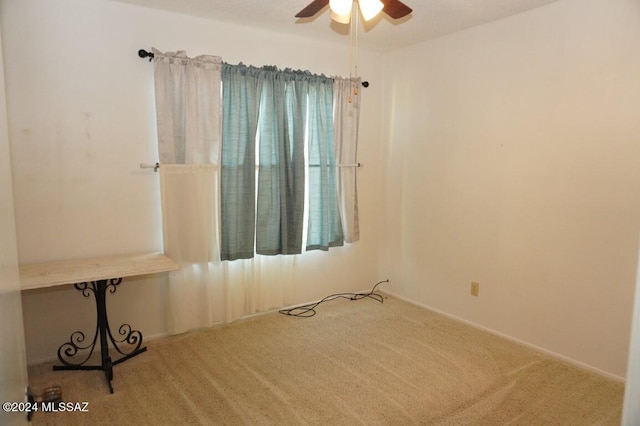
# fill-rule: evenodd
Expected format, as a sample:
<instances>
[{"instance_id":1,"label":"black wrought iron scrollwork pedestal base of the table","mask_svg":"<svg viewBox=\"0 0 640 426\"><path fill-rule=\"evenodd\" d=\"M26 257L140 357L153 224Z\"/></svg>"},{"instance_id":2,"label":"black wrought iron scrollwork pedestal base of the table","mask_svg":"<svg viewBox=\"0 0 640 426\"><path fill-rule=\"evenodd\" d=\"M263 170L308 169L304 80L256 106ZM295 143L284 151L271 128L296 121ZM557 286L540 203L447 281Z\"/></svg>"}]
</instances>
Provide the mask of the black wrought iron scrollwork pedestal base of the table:
<instances>
[{"instance_id":1,"label":"black wrought iron scrollwork pedestal base of the table","mask_svg":"<svg viewBox=\"0 0 640 426\"><path fill-rule=\"evenodd\" d=\"M118 329L120 339L116 339L111 333L109 327L109 320L107 318L107 304L106 295L107 290L110 293L115 293L117 286L122 282L122 278L113 278L109 280L97 280L91 282L83 282L74 284L74 287L82 292L84 297L89 297L93 293L96 302L96 331L93 335L93 340L83 346L85 335L81 331L75 331L71 334L69 341L62 344L58 348L58 360L62 365L54 365L54 370L103 370L107 384L109 385L109 391L113 393L113 386L111 380L113 380L113 366L117 365L129 358L132 358L147 350L142 346L142 333L138 330L133 330L129 324L122 324ZM98 338L100 339L98 341ZM109 343L113 348L119 352L122 357L113 361L109 356ZM133 349L124 351L120 348L119 344L134 345ZM100 365L84 365L97 346L100 346ZM79 351L89 351L86 357L80 362L75 362L75 357Z\"/></svg>"}]
</instances>

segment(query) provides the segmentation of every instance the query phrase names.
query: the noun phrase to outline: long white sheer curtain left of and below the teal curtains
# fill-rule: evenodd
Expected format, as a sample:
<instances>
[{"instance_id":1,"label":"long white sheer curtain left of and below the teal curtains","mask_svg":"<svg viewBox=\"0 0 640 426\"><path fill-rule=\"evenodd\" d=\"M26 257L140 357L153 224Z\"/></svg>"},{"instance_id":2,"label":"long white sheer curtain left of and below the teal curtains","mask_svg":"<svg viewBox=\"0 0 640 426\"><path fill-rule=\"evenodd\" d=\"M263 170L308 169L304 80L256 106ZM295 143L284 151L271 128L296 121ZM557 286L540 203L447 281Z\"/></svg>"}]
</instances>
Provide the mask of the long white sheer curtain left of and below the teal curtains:
<instances>
[{"instance_id":1,"label":"long white sheer curtain left of and below the teal curtains","mask_svg":"<svg viewBox=\"0 0 640 426\"><path fill-rule=\"evenodd\" d=\"M164 250L181 266L169 274L168 332L290 303L293 256L219 260L220 58L153 52Z\"/></svg>"}]
</instances>

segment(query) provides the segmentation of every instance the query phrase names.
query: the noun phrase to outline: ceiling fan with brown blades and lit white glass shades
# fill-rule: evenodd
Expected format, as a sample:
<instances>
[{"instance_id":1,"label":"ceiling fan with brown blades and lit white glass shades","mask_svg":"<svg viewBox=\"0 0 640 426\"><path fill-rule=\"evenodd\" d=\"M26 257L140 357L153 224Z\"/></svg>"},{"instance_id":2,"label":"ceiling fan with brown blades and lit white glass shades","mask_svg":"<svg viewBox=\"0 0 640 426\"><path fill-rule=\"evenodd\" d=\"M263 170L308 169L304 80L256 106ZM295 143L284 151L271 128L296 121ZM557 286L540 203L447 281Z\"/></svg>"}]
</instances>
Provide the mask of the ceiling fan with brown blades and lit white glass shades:
<instances>
[{"instance_id":1,"label":"ceiling fan with brown blades and lit white glass shades","mask_svg":"<svg viewBox=\"0 0 640 426\"><path fill-rule=\"evenodd\" d=\"M351 9L355 0L313 0L296 15L296 18L310 18L325 6L331 7L331 18L337 22L348 24L351 18ZM360 12L365 21L376 16L380 11L393 19L400 19L413 10L400 0L357 0Z\"/></svg>"}]
</instances>

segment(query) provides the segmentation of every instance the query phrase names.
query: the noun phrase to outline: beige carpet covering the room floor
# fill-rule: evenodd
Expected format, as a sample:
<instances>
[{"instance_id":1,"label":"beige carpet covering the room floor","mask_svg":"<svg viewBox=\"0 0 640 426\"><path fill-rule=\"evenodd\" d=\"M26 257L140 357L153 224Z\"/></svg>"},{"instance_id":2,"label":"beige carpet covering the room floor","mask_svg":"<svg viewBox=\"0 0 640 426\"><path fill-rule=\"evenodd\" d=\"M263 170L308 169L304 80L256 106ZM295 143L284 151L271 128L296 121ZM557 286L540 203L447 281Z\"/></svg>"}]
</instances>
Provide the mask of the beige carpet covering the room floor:
<instances>
[{"instance_id":1,"label":"beige carpet covering the room floor","mask_svg":"<svg viewBox=\"0 0 640 426\"><path fill-rule=\"evenodd\" d=\"M624 386L387 297L154 341L102 372L29 369L88 413L34 425L619 425Z\"/></svg>"}]
</instances>

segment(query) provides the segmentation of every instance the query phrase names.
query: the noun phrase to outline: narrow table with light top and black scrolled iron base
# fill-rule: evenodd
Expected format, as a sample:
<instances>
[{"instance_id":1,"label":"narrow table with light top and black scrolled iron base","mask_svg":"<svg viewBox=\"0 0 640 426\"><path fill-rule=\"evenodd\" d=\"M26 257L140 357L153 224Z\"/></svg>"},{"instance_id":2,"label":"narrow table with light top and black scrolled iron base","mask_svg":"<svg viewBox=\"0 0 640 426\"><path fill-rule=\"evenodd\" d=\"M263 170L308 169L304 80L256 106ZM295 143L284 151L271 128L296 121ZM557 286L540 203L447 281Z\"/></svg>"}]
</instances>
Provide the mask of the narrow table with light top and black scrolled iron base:
<instances>
[{"instance_id":1,"label":"narrow table with light top and black scrolled iron base","mask_svg":"<svg viewBox=\"0 0 640 426\"><path fill-rule=\"evenodd\" d=\"M140 275L175 271L180 266L162 253L137 254L130 256L111 256L92 259L47 262L20 265L20 281L22 290L33 290L66 284L82 292L84 297L93 294L98 314L96 331L93 339L84 344L85 335L81 331L71 334L69 341L58 348L58 359L62 365L55 365L54 370L103 370L113 393L111 380L113 366L126 361L147 350L142 347L142 333L133 330L129 324L118 328L118 336L114 337L107 319L106 294L115 293L123 278ZM109 355L109 344L121 355L112 360ZM100 346L100 365L85 365L97 346ZM133 349L123 349L127 345ZM86 357L76 359L80 351L88 351Z\"/></svg>"}]
</instances>

